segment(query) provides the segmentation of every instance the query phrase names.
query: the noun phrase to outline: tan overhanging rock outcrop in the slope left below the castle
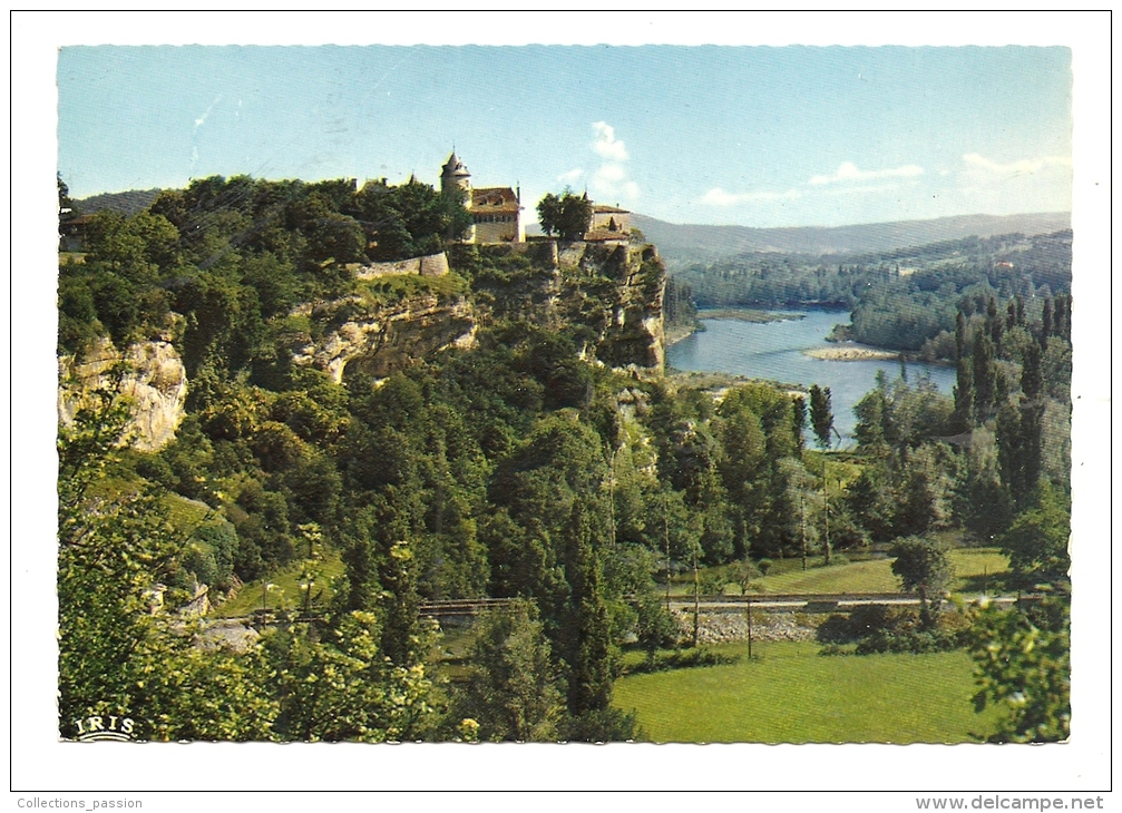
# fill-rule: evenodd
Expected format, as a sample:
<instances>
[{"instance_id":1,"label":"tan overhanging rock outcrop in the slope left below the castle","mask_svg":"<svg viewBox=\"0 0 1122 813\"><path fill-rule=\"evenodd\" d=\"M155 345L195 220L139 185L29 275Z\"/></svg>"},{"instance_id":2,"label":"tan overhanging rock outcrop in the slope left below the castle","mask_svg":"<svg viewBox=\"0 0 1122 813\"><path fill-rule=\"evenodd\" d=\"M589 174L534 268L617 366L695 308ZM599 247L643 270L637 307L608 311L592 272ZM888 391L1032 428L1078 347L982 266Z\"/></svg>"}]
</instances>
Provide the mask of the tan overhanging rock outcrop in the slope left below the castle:
<instances>
[{"instance_id":1,"label":"tan overhanging rock outcrop in the slope left below the castle","mask_svg":"<svg viewBox=\"0 0 1122 813\"><path fill-rule=\"evenodd\" d=\"M324 370L339 384L348 371L385 378L412 359L475 343L475 313L465 299L442 302L425 294L369 313L359 305L348 298L312 308L312 317L327 321L330 329L319 341L297 349L293 360ZM359 312L348 313L355 310Z\"/></svg>"}]
</instances>

